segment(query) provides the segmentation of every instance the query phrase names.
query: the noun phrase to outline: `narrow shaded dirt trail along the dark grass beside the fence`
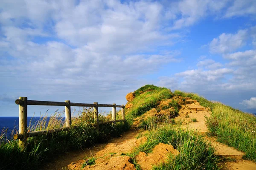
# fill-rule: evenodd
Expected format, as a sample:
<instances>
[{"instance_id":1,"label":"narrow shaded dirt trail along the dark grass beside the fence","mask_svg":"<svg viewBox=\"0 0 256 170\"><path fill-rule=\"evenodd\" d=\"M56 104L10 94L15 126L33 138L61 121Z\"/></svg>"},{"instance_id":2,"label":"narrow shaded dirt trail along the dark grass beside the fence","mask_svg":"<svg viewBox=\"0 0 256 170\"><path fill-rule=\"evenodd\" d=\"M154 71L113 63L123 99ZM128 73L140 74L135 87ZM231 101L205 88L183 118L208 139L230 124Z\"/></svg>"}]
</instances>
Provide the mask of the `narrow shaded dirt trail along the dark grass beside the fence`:
<instances>
[{"instance_id":1,"label":"narrow shaded dirt trail along the dark grass beside the fence","mask_svg":"<svg viewBox=\"0 0 256 170\"><path fill-rule=\"evenodd\" d=\"M129 130L122 134L121 137L113 138L109 142L114 143L122 143L126 140L133 139L137 136L137 131ZM84 150L78 150L73 152L68 152L64 155L57 157L54 161L47 164L41 170L63 170L67 167L70 163L77 161L77 160L84 160L86 157L95 156L99 151L106 147L108 143L103 144L96 144L95 147L85 148Z\"/></svg>"}]
</instances>

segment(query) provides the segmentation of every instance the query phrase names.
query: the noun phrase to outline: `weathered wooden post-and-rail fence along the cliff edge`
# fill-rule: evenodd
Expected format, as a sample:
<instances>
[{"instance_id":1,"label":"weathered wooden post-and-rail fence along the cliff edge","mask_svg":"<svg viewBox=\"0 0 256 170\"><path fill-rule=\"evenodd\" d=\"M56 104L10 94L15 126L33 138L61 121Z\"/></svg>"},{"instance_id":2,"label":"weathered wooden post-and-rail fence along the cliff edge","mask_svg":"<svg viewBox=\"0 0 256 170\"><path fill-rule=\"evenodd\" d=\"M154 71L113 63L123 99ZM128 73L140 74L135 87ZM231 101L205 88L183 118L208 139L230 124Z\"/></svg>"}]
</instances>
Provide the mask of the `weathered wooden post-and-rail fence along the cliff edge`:
<instances>
[{"instance_id":1,"label":"weathered wooden post-and-rail fence along the cliff edge","mask_svg":"<svg viewBox=\"0 0 256 170\"><path fill-rule=\"evenodd\" d=\"M65 102L49 102L49 101L37 101L37 100L28 100L27 97L20 97L15 100L15 103L19 105L19 133L14 135L14 139L19 139L20 147L24 148L26 146L26 140L28 137L39 136L52 133L57 133L61 131L66 131L71 128L71 106L79 106L79 107L93 107L94 120L97 130L99 130L99 125L103 125L106 123L115 123L125 121L125 106L124 105L113 105L108 104L98 104L98 102L94 102L93 104L89 103L72 103L70 100L66 100ZM35 132L27 132L27 106L28 105L44 105L44 106L65 106L65 123L66 127L51 129L51 130L41 130ZM99 112L98 107L112 107L112 120L106 122L99 122ZM116 120L116 108L121 108L122 119ZM77 126L72 126L72 128L76 128Z\"/></svg>"}]
</instances>

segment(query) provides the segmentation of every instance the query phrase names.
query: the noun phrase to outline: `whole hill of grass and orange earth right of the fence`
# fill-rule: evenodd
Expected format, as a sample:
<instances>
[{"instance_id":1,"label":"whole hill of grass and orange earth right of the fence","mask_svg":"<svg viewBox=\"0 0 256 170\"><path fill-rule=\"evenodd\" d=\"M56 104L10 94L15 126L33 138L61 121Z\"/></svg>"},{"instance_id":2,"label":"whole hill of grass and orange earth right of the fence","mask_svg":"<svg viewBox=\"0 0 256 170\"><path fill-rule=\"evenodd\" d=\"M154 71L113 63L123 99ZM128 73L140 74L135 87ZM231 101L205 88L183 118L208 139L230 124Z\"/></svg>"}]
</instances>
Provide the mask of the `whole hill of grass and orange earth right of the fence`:
<instances>
[{"instance_id":1,"label":"whole hill of grass and orange earth right of the fence","mask_svg":"<svg viewBox=\"0 0 256 170\"><path fill-rule=\"evenodd\" d=\"M238 128L248 120L246 127L255 130L256 118L252 115L197 94L172 92L154 85L145 85L127 94L126 99L125 118L131 129L140 133L107 144L93 157L70 164L70 169L256 168L255 133ZM229 132L221 134L225 128ZM240 133L243 139L246 135L250 148L241 147L245 141L237 140L233 133Z\"/></svg>"}]
</instances>

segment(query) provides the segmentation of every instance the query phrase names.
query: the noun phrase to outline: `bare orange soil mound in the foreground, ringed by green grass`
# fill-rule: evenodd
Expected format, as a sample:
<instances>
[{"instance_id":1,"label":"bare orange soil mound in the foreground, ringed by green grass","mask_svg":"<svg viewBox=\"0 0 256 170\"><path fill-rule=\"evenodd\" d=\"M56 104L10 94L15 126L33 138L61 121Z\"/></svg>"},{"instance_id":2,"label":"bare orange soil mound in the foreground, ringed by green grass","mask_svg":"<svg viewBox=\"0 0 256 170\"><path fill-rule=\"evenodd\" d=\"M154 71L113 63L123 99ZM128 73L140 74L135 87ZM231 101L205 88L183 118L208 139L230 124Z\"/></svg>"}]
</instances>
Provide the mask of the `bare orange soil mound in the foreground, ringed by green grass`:
<instances>
[{"instance_id":1,"label":"bare orange soil mound in the foreground, ringed by green grass","mask_svg":"<svg viewBox=\"0 0 256 170\"><path fill-rule=\"evenodd\" d=\"M154 147L152 153L148 155L144 152L140 152L139 155L136 156L136 160L142 170L151 170L154 165L166 161L169 153L177 155L179 151L174 149L170 144L159 143Z\"/></svg>"}]
</instances>

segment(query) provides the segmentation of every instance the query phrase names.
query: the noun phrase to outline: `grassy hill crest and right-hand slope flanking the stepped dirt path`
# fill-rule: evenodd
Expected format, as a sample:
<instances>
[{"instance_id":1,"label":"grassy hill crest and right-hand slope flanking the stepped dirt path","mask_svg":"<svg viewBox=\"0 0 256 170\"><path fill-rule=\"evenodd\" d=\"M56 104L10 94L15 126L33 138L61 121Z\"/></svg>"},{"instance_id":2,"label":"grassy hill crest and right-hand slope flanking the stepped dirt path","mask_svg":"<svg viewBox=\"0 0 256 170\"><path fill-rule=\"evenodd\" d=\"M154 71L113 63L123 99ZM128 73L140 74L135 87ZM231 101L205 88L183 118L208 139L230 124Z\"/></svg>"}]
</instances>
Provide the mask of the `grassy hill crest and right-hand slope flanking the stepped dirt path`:
<instances>
[{"instance_id":1,"label":"grassy hill crest and right-hand slope flanking the stepped dirt path","mask_svg":"<svg viewBox=\"0 0 256 170\"><path fill-rule=\"evenodd\" d=\"M245 152L245 159L256 161L256 117L252 114L243 113L220 102L208 101L197 94L182 91L172 92L167 88L154 85L145 85L134 91L134 94L134 99L128 102L133 105L130 109L126 109L126 116L130 124L136 122L138 117L143 118L140 121L140 127L145 125L156 127L160 122L173 122L171 120L177 116L179 106L182 104L179 99L189 97L197 100L200 105L211 109L212 115L207 119L209 135L217 137L218 142ZM160 107L161 102L166 100L173 102L168 102L166 106ZM170 109L169 116L164 119L163 117L157 119L157 114L143 117L143 114L147 114L152 109L163 112L164 108Z\"/></svg>"}]
</instances>

